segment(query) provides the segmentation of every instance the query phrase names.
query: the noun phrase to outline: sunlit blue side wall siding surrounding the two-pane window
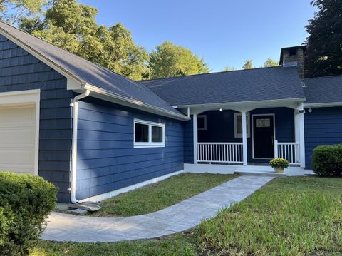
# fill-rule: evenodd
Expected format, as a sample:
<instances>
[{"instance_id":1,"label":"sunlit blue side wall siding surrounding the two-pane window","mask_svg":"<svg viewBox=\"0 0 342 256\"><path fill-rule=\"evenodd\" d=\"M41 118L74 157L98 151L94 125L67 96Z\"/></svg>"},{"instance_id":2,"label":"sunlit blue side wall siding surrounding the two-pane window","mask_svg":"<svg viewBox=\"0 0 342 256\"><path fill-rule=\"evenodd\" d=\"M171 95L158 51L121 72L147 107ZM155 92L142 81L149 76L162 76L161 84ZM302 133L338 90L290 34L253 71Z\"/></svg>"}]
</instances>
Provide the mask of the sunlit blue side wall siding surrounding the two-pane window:
<instances>
[{"instance_id":1,"label":"sunlit blue side wall siding surrounding the two-pane window","mask_svg":"<svg viewBox=\"0 0 342 256\"><path fill-rule=\"evenodd\" d=\"M86 98L78 112L77 198L183 169L183 123ZM133 118L165 123L165 148L133 148Z\"/></svg>"}]
</instances>

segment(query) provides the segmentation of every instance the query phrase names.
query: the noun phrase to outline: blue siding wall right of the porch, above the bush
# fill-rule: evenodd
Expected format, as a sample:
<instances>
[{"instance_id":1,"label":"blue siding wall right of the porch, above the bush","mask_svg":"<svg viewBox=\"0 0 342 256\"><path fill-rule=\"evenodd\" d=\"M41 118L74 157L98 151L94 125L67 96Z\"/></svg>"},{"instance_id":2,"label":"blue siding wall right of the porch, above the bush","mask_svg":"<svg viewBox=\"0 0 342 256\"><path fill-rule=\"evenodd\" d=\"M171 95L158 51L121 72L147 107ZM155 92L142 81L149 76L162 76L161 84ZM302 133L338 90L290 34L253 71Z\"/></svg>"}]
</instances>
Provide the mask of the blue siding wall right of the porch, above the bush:
<instances>
[{"instance_id":1,"label":"blue siding wall right of the porch, above the bush","mask_svg":"<svg viewBox=\"0 0 342 256\"><path fill-rule=\"evenodd\" d=\"M304 114L306 168L311 168L312 151L318 145L342 143L342 107L312 108Z\"/></svg>"}]
</instances>

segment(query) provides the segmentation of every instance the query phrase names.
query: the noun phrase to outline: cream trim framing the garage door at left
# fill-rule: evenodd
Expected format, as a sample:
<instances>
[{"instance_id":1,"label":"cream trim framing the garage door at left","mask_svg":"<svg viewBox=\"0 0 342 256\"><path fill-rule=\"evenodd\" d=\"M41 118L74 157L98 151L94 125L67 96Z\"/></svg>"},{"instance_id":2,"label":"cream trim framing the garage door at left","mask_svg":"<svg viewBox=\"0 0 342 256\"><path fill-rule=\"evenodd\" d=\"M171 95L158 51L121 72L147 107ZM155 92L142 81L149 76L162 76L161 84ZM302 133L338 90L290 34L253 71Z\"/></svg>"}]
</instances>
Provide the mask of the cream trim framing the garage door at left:
<instances>
[{"instance_id":1,"label":"cream trim framing the garage door at left","mask_svg":"<svg viewBox=\"0 0 342 256\"><path fill-rule=\"evenodd\" d=\"M20 106L33 103L36 108L35 141L34 141L34 168L33 174L38 175L39 153L39 113L40 113L41 90L9 91L0 93L0 108Z\"/></svg>"}]
</instances>

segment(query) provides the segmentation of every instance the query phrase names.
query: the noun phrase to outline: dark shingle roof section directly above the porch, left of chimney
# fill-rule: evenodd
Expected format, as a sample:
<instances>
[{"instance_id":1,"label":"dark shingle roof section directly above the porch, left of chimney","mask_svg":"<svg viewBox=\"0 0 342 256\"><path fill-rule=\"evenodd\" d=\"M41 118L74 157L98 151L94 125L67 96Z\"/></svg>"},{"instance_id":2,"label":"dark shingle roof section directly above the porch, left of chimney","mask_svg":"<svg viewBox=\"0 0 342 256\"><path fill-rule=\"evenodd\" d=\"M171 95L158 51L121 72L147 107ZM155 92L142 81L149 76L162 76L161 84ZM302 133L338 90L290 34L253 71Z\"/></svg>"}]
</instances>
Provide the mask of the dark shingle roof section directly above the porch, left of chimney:
<instances>
[{"instance_id":1,"label":"dark shingle roof section directly above the porch, left of chimney","mask_svg":"<svg viewBox=\"0 0 342 256\"><path fill-rule=\"evenodd\" d=\"M296 67L254 68L139 83L178 106L305 97Z\"/></svg>"}]
</instances>

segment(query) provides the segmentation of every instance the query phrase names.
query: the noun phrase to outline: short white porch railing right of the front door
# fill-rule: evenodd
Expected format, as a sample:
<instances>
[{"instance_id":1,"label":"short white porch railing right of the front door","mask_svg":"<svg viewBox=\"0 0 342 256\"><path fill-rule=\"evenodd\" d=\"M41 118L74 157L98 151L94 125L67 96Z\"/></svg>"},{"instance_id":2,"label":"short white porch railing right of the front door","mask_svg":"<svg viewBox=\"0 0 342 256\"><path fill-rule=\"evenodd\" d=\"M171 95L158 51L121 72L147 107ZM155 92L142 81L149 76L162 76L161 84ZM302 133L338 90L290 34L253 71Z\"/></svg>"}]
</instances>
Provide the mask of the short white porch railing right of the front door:
<instances>
[{"instance_id":1,"label":"short white porch railing right of the front door","mask_svg":"<svg viewBox=\"0 0 342 256\"><path fill-rule=\"evenodd\" d=\"M284 158L291 165L299 165L301 162L299 143L274 140L274 158Z\"/></svg>"}]
</instances>

